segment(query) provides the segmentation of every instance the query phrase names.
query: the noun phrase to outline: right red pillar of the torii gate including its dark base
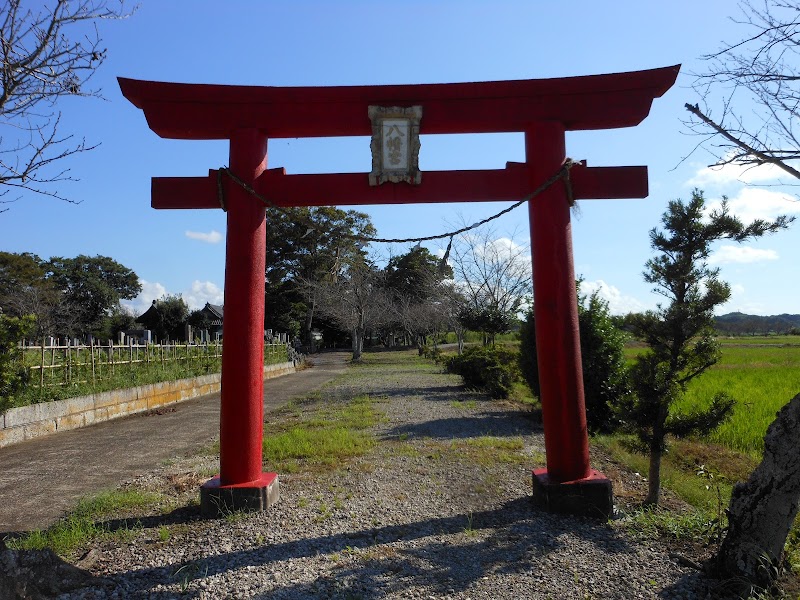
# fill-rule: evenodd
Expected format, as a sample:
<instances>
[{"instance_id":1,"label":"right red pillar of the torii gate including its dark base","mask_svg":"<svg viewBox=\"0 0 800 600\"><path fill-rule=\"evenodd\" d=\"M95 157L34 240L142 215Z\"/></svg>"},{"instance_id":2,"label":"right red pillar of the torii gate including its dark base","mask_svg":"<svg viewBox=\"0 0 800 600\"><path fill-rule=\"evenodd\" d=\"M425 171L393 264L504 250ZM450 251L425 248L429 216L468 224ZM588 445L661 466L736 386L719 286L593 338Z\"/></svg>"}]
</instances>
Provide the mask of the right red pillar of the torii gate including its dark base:
<instances>
[{"instance_id":1,"label":"right red pillar of the torii gate including its dark base","mask_svg":"<svg viewBox=\"0 0 800 600\"><path fill-rule=\"evenodd\" d=\"M564 164L564 131L558 121L533 123L525 131L531 189ZM533 472L533 499L550 512L608 518L614 508L611 481L589 464L570 204L562 180L532 199L528 207L547 454L547 468Z\"/></svg>"}]
</instances>

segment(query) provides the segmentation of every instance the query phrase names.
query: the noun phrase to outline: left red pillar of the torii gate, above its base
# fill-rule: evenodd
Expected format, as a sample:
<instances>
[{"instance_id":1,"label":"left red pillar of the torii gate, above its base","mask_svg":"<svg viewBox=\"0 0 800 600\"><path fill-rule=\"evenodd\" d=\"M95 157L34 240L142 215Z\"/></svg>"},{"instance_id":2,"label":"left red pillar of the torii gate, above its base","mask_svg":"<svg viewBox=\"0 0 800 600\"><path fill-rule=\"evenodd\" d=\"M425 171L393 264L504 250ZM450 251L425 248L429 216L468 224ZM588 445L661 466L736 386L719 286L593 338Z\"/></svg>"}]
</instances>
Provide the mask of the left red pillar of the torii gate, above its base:
<instances>
[{"instance_id":1,"label":"left red pillar of the torii gate, above its base","mask_svg":"<svg viewBox=\"0 0 800 600\"><path fill-rule=\"evenodd\" d=\"M267 136L234 132L230 164L252 184L267 166ZM239 186L227 201L219 461L222 485L239 485L262 476L266 209Z\"/></svg>"}]
</instances>

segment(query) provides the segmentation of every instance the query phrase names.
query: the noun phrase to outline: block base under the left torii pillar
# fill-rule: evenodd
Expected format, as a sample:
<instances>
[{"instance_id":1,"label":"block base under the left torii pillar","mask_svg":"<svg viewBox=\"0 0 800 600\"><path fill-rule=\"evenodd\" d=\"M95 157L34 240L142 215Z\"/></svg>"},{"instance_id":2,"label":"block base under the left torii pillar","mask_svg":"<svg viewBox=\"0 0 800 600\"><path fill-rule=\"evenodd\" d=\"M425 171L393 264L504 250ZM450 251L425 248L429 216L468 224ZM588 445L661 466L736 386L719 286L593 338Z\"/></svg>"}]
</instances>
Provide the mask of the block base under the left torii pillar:
<instances>
[{"instance_id":1,"label":"block base under the left torii pillar","mask_svg":"<svg viewBox=\"0 0 800 600\"><path fill-rule=\"evenodd\" d=\"M217 476L200 486L200 514L215 518L237 510L266 510L278 497L277 473L262 473L260 479L236 485L221 485Z\"/></svg>"}]
</instances>

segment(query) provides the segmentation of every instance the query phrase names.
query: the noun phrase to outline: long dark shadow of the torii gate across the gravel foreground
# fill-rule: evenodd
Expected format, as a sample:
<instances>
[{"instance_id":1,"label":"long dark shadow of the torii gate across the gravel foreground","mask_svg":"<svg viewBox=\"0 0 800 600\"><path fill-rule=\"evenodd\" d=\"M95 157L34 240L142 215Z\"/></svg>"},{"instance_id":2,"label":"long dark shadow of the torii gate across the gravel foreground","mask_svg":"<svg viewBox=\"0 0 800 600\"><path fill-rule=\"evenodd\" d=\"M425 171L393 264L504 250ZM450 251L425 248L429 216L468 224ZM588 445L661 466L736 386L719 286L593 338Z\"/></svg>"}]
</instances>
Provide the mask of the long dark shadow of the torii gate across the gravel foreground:
<instances>
[{"instance_id":1,"label":"long dark shadow of the torii gate across the gravel foreground","mask_svg":"<svg viewBox=\"0 0 800 600\"><path fill-rule=\"evenodd\" d=\"M494 531L484 537L481 532L487 528ZM384 597L425 585L433 593L452 594L489 575L535 571L548 554L562 547L560 538L567 532L581 535L584 542L607 555L635 552L603 522L587 520L576 527L574 517L541 513L530 498L520 498L488 511L259 546L198 561L143 568L121 576L132 583L132 592L146 593L158 584L181 582L186 587L182 597L197 598L201 590L192 585L195 580L318 554L343 554L358 555L358 560L343 561L331 575L313 583L281 586L281 593L346 597L368 592L370 596ZM460 533L464 535L455 542L442 539ZM388 546L409 540L415 543L401 549ZM454 561L453 555L460 559ZM454 564L459 568L453 568ZM619 585L623 593L626 583L620 581ZM255 597L269 598L274 593Z\"/></svg>"}]
</instances>

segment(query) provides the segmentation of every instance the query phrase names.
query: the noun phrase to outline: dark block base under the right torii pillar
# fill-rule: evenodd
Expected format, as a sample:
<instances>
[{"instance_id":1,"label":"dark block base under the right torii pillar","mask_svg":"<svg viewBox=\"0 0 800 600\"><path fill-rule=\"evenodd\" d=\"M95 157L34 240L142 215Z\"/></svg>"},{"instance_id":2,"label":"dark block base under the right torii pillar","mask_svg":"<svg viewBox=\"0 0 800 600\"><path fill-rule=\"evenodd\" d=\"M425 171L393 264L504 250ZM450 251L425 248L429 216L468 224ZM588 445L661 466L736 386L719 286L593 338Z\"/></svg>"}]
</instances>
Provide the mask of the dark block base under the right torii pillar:
<instances>
[{"instance_id":1,"label":"dark block base under the right torii pillar","mask_svg":"<svg viewBox=\"0 0 800 600\"><path fill-rule=\"evenodd\" d=\"M533 501L547 512L609 519L614 513L611 481L592 470L585 479L556 483L547 469L533 472Z\"/></svg>"}]
</instances>

